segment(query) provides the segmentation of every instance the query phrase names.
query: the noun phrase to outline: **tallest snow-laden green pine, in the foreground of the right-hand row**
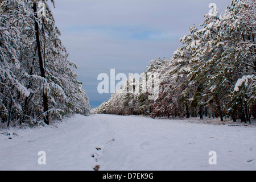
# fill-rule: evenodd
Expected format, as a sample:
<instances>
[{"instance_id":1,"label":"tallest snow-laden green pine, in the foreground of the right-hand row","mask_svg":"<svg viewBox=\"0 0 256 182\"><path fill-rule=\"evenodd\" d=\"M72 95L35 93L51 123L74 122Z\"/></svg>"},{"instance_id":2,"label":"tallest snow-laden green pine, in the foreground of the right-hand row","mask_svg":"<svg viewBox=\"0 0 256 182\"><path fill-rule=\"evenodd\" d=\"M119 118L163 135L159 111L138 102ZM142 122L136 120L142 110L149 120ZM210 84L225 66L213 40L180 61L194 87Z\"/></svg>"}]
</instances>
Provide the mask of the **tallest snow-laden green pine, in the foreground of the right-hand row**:
<instances>
[{"instance_id":1,"label":"tallest snow-laden green pine, in the foreground of the right-hand row","mask_svg":"<svg viewBox=\"0 0 256 182\"><path fill-rule=\"evenodd\" d=\"M237 79L253 72L255 43L251 27L255 28L255 24L247 17L255 19L254 4L233 1L219 18L205 15L201 24L204 28L196 32L200 42L192 55L194 65L189 74L189 84L197 85L192 105L201 109L213 106L221 121Z\"/></svg>"}]
</instances>

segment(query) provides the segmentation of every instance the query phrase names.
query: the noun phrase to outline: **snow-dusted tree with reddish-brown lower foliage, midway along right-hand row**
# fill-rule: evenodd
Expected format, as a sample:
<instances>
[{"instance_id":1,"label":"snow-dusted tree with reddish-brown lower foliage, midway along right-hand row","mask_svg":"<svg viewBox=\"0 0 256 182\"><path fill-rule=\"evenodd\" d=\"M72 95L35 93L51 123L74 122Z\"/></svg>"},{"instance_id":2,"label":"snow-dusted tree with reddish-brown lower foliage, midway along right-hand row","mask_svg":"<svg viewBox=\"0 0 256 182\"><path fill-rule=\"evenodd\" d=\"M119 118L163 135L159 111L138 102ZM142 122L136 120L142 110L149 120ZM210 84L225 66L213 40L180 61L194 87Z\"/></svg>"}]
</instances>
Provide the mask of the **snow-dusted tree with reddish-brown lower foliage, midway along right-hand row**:
<instances>
[{"instance_id":1,"label":"snow-dusted tree with reddish-brown lower foliage, midway along right-hand row","mask_svg":"<svg viewBox=\"0 0 256 182\"><path fill-rule=\"evenodd\" d=\"M197 37L195 26L190 27L190 35L185 35L180 41L184 44L174 52L174 57L160 68L159 97L152 102L151 117L189 117L189 101L185 94L187 86L184 81L191 71L191 45L195 44ZM182 100L182 102L180 102Z\"/></svg>"}]
</instances>

